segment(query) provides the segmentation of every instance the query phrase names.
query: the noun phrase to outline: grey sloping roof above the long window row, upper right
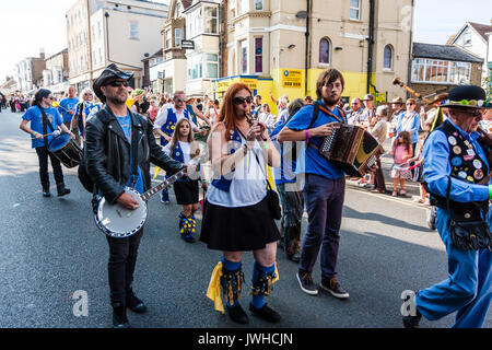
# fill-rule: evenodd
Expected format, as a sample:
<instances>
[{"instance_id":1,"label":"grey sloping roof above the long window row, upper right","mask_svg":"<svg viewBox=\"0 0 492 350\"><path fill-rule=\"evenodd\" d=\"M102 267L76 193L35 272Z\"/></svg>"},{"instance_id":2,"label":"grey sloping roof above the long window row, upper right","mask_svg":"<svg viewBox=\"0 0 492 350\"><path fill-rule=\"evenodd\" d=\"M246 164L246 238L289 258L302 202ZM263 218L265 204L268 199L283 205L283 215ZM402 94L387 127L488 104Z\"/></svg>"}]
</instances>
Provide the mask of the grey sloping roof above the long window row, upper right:
<instances>
[{"instance_id":1,"label":"grey sloping roof above the long window row, upper right","mask_svg":"<svg viewBox=\"0 0 492 350\"><path fill-rule=\"evenodd\" d=\"M471 55L457 46L450 45L413 43L412 52L414 58L423 57L460 62L483 62L481 58L478 58L477 56Z\"/></svg>"}]
</instances>

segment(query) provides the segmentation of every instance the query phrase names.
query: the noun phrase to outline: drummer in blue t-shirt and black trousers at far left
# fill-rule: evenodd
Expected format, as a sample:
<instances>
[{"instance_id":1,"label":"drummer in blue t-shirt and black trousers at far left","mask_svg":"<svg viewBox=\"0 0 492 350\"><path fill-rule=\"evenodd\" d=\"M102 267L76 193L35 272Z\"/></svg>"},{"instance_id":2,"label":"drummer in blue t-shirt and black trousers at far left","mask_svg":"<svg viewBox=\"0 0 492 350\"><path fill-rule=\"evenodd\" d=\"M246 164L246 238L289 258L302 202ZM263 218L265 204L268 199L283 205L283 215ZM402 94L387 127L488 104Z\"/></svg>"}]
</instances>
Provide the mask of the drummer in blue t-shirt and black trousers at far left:
<instances>
[{"instance_id":1,"label":"drummer in blue t-shirt and black trousers at far left","mask_svg":"<svg viewBox=\"0 0 492 350\"><path fill-rule=\"evenodd\" d=\"M22 116L20 126L21 130L31 135L32 148L36 150L39 159L39 178L44 197L51 196L49 192L48 156L57 183L58 197L70 194L70 189L65 187L60 161L48 151L48 144L54 139L54 133L60 133L58 129L61 129L61 132L70 133L72 138L74 138L74 135L63 124L60 113L52 107L52 100L51 91L39 89L34 95L32 107ZM49 122L43 122L43 115ZM28 122L31 122L30 126L27 126Z\"/></svg>"}]
</instances>

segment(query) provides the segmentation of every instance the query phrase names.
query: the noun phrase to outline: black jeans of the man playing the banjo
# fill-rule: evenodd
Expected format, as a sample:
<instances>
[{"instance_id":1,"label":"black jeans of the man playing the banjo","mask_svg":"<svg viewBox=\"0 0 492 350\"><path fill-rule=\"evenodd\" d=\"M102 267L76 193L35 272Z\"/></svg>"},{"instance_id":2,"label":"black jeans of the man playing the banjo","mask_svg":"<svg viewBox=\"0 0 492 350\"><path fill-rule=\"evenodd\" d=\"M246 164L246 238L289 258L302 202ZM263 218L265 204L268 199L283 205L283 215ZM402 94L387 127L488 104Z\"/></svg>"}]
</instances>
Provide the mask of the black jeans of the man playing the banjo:
<instances>
[{"instance_id":1,"label":"black jeans of the man playing the banjo","mask_svg":"<svg viewBox=\"0 0 492 350\"><path fill-rule=\"evenodd\" d=\"M118 303L126 305L126 296L127 293L131 291L131 283L133 282L137 252L142 235L143 228L127 238L113 238L106 236L107 243L109 244L107 271L113 306Z\"/></svg>"}]
</instances>

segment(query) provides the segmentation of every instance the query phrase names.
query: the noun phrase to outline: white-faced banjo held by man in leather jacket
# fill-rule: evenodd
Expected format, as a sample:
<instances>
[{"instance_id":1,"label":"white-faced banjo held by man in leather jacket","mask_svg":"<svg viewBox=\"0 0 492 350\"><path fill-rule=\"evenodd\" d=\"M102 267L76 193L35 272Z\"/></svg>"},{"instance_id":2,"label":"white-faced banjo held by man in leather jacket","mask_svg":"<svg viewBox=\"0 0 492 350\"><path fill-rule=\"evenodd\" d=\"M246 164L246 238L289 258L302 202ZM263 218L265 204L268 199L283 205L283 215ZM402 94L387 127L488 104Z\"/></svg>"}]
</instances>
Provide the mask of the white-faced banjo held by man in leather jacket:
<instances>
[{"instance_id":1,"label":"white-faced banjo held by man in leather jacket","mask_svg":"<svg viewBox=\"0 0 492 350\"><path fill-rule=\"evenodd\" d=\"M196 158L189 162L189 165L197 165L200 160L204 158L204 155ZM171 186L174 182L185 175L186 172L181 168L179 172L169 176L157 186L152 187L144 194L140 194L134 188L128 186L125 187L125 192L133 196L140 205L140 207L134 210L124 208L119 203L110 205L104 197L101 197L97 203L97 211L94 214L97 228L106 235L114 238L126 238L136 234L147 221L147 201L160 190Z\"/></svg>"}]
</instances>

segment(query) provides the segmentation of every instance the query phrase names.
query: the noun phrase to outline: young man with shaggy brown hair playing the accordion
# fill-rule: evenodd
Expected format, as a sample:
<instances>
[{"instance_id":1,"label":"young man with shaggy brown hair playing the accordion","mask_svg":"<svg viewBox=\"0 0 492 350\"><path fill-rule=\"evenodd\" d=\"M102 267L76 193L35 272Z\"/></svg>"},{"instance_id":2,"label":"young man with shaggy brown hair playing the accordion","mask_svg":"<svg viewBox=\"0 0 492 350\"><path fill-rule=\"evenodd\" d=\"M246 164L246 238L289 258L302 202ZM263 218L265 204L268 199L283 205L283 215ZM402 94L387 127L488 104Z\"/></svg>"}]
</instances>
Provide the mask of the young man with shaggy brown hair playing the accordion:
<instances>
[{"instance_id":1,"label":"young man with shaggy brown hair playing the accordion","mask_svg":"<svg viewBox=\"0 0 492 350\"><path fill-rule=\"evenodd\" d=\"M308 214L297 281L301 290L311 295L318 294L312 272L321 249L321 283L319 287L339 299L349 298L336 279L339 248L339 231L345 190L344 172L328 161L318 151L324 138L332 135L339 124L347 124L343 110L337 106L343 91L344 80L336 69L321 72L316 82L319 114L314 119L314 105L297 112L280 131L278 140L305 141L304 201Z\"/></svg>"}]
</instances>

